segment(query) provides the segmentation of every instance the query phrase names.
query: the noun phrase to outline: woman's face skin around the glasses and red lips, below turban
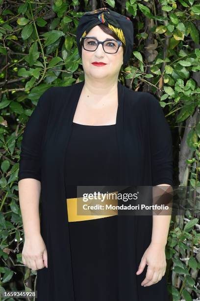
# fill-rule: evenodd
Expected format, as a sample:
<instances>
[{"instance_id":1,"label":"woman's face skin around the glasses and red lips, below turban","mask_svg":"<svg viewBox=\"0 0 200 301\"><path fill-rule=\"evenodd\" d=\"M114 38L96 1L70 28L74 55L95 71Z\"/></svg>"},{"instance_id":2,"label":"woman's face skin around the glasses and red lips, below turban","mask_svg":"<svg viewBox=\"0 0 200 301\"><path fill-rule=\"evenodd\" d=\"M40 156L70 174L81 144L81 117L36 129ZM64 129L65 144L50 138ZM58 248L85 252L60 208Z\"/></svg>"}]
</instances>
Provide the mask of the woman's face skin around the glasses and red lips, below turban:
<instances>
[{"instance_id":1,"label":"woman's face skin around the glasses and red lips, below turban","mask_svg":"<svg viewBox=\"0 0 200 301\"><path fill-rule=\"evenodd\" d=\"M96 37L99 41L107 38L113 39L112 35L105 33L97 25L86 36ZM91 78L118 78L123 64L123 47L120 46L117 53L105 53L102 45L95 51L87 51L82 47L82 65L84 73ZM106 65L96 66L92 62L104 62Z\"/></svg>"}]
</instances>

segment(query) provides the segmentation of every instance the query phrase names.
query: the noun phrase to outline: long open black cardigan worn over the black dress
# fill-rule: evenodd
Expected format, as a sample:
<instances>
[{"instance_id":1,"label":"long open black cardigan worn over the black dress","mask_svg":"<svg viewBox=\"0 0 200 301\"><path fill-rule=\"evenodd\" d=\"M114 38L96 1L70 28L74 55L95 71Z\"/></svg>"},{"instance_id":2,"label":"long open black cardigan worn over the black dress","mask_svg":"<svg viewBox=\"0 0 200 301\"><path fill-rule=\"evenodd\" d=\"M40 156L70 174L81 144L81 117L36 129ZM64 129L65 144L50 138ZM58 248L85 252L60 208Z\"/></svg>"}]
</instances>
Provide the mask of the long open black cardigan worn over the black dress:
<instances>
[{"instance_id":1,"label":"long open black cardigan worn over the black dress","mask_svg":"<svg viewBox=\"0 0 200 301\"><path fill-rule=\"evenodd\" d=\"M38 301L60 301L63 296L75 301L64 160L83 85L84 81L46 90L23 135L18 181L41 181L41 234L48 250L48 269L37 271ZM172 136L158 100L148 92L133 91L118 82L116 123L121 158L119 185L173 185ZM138 268L151 232L152 216L118 218L119 301L143 301L147 296L148 300L168 300L165 277L142 287L146 268L140 275L128 273L131 265ZM133 282L137 282L137 292L130 284Z\"/></svg>"}]
</instances>

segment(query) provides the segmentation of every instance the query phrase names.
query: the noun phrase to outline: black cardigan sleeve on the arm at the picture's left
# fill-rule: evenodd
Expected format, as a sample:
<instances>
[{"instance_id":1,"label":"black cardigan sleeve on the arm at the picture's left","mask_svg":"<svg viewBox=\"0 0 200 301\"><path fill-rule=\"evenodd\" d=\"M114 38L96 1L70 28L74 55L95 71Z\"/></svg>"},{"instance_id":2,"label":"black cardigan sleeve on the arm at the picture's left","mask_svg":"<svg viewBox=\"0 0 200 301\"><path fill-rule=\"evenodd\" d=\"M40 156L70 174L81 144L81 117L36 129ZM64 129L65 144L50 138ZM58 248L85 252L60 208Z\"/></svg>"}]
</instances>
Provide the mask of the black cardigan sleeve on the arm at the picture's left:
<instances>
[{"instance_id":1,"label":"black cardigan sleeve on the arm at the picture's left","mask_svg":"<svg viewBox=\"0 0 200 301\"><path fill-rule=\"evenodd\" d=\"M29 117L21 143L18 181L26 178L41 181L41 149L50 111L50 91L46 90Z\"/></svg>"}]
</instances>

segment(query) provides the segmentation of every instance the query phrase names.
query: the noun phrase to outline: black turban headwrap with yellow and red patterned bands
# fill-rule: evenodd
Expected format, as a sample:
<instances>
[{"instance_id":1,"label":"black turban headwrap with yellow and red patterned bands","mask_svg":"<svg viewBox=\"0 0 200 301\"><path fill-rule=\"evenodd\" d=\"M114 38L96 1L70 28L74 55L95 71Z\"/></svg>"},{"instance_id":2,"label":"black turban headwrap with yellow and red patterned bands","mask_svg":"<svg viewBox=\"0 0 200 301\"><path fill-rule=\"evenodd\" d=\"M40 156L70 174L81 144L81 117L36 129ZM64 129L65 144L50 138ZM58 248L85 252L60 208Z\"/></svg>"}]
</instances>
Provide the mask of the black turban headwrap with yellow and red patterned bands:
<instances>
[{"instance_id":1,"label":"black turban headwrap with yellow and red patterned bands","mask_svg":"<svg viewBox=\"0 0 200 301\"><path fill-rule=\"evenodd\" d=\"M123 65L125 66L133 51L133 24L128 17L106 7L85 12L81 16L76 31L76 42L80 58L82 58L81 37L87 35L93 27L99 24L107 26L124 43Z\"/></svg>"}]
</instances>

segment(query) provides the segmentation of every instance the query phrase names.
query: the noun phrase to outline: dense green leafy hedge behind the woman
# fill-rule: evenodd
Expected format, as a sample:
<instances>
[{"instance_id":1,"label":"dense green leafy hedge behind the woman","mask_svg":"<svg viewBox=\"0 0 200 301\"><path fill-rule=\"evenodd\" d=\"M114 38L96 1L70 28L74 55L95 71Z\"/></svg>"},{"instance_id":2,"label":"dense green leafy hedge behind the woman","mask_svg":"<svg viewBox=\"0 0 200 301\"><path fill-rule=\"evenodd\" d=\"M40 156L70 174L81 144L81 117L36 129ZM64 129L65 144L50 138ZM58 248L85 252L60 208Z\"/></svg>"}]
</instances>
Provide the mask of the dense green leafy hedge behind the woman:
<instances>
[{"instance_id":1,"label":"dense green leafy hedge behind the woman","mask_svg":"<svg viewBox=\"0 0 200 301\"><path fill-rule=\"evenodd\" d=\"M107 0L104 5L125 14L134 25L134 51L120 72L121 82L133 90L149 91L160 101L173 133L175 184L199 192L199 1L126 0L123 6L120 1ZM101 2L95 8L100 7ZM18 171L24 127L45 90L84 79L75 33L79 17L93 9L87 0L0 0L2 293L34 290L37 274L23 265L21 256L24 233ZM199 209L199 199L196 206ZM187 210L171 221L166 247L171 300L200 297L198 217Z\"/></svg>"}]
</instances>

